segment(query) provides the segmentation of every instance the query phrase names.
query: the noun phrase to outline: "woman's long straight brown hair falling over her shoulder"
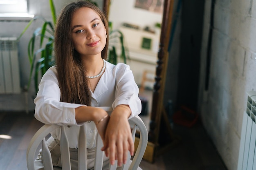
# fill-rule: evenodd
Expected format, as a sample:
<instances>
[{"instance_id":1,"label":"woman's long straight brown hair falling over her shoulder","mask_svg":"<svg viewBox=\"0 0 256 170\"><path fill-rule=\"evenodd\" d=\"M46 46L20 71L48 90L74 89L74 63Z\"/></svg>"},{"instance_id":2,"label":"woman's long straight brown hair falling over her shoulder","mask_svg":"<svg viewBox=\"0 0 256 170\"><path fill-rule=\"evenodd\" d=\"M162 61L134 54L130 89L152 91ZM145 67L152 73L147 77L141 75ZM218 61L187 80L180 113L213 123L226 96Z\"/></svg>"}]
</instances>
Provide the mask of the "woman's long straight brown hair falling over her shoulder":
<instances>
[{"instance_id":1,"label":"woman's long straight brown hair falling over her shoulder","mask_svg":"<svg viewBox=\"0 0 256 170\"><path fill-rule=\"evenodd\" d=\"M104 13L88 1L78 1L68 4L60 13L54 32L55 60L58 73L58 83L61 90L61 102L91 105L91 92L88 78L85 77L85 68L74 49L71 38L71 20L73 13L81 8L88 7L99 14L108 35L108 20ZM106 46L101 57L106 59L108 53L108 36Z\"/></svg>"}]
</instances>

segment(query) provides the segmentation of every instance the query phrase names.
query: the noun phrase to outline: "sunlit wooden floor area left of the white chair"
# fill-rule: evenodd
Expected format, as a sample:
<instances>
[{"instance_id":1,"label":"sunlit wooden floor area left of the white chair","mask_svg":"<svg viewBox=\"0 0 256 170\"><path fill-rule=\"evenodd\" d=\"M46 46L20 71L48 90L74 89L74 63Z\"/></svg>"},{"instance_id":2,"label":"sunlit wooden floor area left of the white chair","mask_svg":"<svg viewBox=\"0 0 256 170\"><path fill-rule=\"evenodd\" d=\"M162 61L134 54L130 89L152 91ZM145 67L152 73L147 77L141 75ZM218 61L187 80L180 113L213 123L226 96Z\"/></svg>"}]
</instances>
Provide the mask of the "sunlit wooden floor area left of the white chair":
<instances>
[{"instance_id":1,"label":"sunlit wooden floor area left of the white chair","mask_svg":"<svg viewBox=\"0 0 256 170\"><path fill-rule=\"evenodd\" d=\"M0 113L0 170L27 170L27 146L42 125L32 113Z\"/></svg>"}]
</instances>

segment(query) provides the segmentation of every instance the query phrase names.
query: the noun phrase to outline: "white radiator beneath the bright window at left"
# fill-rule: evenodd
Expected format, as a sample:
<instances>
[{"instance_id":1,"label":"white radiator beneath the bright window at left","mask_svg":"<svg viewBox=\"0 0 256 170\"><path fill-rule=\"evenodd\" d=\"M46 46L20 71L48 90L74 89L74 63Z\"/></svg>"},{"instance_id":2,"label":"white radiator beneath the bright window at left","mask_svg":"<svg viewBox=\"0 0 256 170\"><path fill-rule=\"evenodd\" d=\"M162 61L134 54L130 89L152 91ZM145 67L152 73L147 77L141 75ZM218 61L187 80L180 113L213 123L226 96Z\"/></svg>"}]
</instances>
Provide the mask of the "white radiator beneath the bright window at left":
<instances>
[{"instance_id":1,"label":"white radiator beneath the bright window at left","mask_svg":"<svg viewBox=\"0 0 256 170\"><path fill-rule=\"evenodd\" d=\"M0 94L20 93L17 38L0 38Z\"/></svg>"}]
</instances>

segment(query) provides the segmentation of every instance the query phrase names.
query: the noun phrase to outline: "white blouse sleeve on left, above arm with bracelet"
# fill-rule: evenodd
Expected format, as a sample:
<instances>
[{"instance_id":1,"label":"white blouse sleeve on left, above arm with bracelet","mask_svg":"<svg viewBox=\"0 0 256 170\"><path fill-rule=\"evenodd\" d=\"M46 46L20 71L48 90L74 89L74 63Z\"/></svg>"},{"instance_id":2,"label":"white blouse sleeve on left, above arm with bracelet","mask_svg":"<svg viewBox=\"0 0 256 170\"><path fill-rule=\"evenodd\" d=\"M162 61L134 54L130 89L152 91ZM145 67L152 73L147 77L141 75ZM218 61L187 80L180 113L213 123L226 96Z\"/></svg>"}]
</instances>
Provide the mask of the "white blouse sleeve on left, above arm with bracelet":
<instances>
[{"instance_id":1,"label":"white blouse sleeve on left, above arm with bracelet","mask_svg":"<svg viewBox=\"0 0 256 170\"><path fill-rule=\"evenodd\" d=\"M36 119L44 124L77 125L75 108L84 105L60 102L61 92L55 67L43 75L38 87L39 91L34 99Z\"/></svg>"}]
</instances>

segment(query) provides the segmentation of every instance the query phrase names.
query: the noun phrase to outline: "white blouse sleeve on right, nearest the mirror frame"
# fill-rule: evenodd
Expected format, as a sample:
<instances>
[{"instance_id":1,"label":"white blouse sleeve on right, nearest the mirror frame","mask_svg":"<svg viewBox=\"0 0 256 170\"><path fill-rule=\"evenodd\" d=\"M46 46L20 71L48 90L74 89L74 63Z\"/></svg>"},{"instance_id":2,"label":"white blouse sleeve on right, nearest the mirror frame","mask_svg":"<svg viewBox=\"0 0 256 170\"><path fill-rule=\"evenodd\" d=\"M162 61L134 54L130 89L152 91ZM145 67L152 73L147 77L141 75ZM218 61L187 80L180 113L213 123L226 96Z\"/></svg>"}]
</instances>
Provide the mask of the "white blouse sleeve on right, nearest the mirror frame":
<instances>
[{"instance_id":1,"label":"white blouse sleeve on right, nearest the mirror frame","mask_svg":"<svg viewBox=\"0 0 256 170\"><path fill-rule=\"evenodd\" d=\"M116 98L112 104L115 108L120 104L129 105L131 109L131 117L135 117L141 113L141 100L139 99L139 88L135 83L130 66L126 64L124 69L118 69L117 65L117 77L116 77Z\"/></svg>"}]
</instances>

